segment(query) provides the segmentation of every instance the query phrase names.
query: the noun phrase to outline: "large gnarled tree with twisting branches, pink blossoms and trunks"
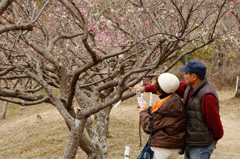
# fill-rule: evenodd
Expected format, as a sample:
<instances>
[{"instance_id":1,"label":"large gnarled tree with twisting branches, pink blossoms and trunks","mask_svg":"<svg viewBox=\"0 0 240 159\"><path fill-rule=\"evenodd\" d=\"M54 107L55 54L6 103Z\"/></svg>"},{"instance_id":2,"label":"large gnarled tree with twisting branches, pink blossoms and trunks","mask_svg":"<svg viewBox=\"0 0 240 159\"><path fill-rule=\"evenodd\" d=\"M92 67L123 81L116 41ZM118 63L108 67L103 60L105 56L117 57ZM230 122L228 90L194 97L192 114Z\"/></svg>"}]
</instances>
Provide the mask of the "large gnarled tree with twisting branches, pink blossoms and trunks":
<instances>
[{"instance_id":1,"label":"large gnarled tree with twisting branches, pink blossoms and trunks","mask_svg":"<svg viewBox=\"0 0 240 159\"><path fill-rule=\"evenodd\" d=\"M172 59L168 71L224 35L233 4L238 1L2 0L0 100L51 103L70 131L64 158L74 158L79 146L89 158L106 158L112 104L133 96L128 88L159 65Z\"/></svg>"}]
</instances>

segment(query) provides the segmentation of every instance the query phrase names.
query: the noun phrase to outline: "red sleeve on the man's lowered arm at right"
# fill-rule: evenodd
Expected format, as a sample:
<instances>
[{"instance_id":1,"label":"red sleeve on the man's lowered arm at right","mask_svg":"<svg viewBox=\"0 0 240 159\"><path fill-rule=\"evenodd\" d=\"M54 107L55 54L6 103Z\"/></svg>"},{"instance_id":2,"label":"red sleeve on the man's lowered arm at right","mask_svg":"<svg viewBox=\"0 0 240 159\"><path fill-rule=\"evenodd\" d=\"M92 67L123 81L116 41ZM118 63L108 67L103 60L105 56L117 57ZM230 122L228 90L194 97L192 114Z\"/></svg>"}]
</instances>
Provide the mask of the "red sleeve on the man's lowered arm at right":
<instances>
[{"instance_id":1,"label":"red sleeve on the man's lowered arm at right","mask_svg":"<svg viewBox=\"0 0 240 159\"><path fill-rule=\"evenodd\" d=\"M223 136L223 126L217 109L217 99L212 94L205 95L202 100L201 109L208 128L213 133L214 139L219 140Z\"/></svg>"}]
</instances>

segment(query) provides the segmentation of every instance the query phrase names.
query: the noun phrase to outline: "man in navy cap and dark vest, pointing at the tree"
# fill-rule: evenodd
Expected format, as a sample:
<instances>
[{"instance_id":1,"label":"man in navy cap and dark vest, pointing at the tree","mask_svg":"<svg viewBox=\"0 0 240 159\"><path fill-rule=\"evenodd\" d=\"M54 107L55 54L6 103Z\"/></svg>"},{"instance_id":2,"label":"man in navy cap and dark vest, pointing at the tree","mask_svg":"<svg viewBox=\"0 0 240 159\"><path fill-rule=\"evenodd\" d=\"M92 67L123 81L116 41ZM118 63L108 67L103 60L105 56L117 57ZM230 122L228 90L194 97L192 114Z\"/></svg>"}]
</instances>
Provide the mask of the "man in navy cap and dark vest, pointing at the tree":
<instances>
[{"instance_id":1,"label":"man in navy cap and dark vest, pointing at the tree","mask_svg":"<svg viewBox=\"0 0 240 159\"><path fill-rule=\"evenodd\" d=\"M183 98L187 111L185 159L207 159L223 136L218 96L205 77L206 66L202 62L190 60L180 71L185 73L185 82L180 83L175 93ZM140 89L156 93L154 85Z\"/></svg>"}]
</instances>

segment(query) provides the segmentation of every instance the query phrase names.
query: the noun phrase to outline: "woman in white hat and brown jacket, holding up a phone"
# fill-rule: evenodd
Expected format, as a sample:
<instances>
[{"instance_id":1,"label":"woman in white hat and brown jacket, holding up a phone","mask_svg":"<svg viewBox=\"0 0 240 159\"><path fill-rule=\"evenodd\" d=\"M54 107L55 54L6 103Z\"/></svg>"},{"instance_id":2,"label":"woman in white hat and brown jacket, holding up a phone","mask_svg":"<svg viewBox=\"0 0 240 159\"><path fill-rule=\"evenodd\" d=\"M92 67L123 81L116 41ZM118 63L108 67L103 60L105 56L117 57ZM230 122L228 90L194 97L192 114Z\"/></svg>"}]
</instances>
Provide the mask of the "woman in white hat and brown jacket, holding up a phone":
<instances>
[{"instance_id":1,"label":"woman in white hat and brown jacket, holding up a phone","mask_svg":"<svg viewBox=\"0 0 240 159\"><path fill-rule=\"evenodd\" d=\"M186 112L181 98L174 92L179 86L178 78L170 73L155 77L155 89L160 100L153 107L143 101L140 108L141 125L144 132L151 133L150 116L153 117L151 149L153 159L177 159L184 147Z\"/></svg>"}]
</instances>

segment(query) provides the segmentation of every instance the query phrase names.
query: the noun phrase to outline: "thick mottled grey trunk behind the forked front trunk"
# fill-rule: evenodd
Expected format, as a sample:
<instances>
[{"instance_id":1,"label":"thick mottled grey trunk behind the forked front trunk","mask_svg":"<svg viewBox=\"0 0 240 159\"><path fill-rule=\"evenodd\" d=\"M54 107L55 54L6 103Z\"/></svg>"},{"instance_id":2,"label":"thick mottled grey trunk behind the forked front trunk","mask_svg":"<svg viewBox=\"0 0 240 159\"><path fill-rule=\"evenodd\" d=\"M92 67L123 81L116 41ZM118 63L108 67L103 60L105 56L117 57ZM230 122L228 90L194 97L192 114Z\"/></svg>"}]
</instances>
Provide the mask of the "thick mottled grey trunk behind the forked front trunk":
<instances>
[{"instance_id":1,"label":"thick mottled grey trunk behind the forked front trunk","mask_svg":"<svg viewBox=\"0 0 240 159\"><path fill-rule=\"evenodd\" d=\"M78 88L76 91L76 100L81 109L87 109L97 105L97 103L94 102L95 100L89 98ZM90 137L88 139L89 141L87 142L90 144L88 143L88 145L85 145L86 141L80 141L80 147L87 153L88 159L107 158L107 136L109 127L109 114L111 112L111 109L112 105L94 115L94 119L96 120L96 127L94 126L94 122L90 117L86 121L85 128Z\"/></svg>"}]
</instances>

